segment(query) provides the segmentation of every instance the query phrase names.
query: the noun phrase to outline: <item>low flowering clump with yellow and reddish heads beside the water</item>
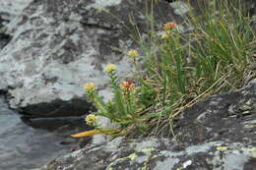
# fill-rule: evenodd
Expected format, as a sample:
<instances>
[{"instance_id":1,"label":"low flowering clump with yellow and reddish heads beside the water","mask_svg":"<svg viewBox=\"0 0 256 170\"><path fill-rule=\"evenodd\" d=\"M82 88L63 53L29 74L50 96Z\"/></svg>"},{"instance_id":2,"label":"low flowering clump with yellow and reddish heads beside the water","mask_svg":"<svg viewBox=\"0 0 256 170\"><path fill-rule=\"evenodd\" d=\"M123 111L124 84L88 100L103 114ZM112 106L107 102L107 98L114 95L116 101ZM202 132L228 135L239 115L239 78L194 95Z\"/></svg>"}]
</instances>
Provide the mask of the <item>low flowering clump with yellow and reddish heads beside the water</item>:
<instances>
[{"instance_id":1,"label":"low flowering clump with yellow and reddish heads beside the water","mask_svg":"<svg viewBox=\"0 0 256 170\"><path fill-rule=\"evenodd\" d=\"M135 59L139 54L136 50L130 50L128 56ZM87 83L84 85L86 96L90 101L94 102L97 109L95 113L89 114L85 120L88 125L95 127L95 130L76 134L72 137L88 137L100 133L112 136L123 135L127 133L125 128L128 127L128 125L135 125L142 131L146 128L145 125L142 125L143 121L140 119L140 116L142 111L149 105L149 100L147 99L149 95L145 95L145 91L149 93L149 91L152 90L146 89L146 85L135 85L133 81L120 82L117 77L116 69L117 67L113 64L108 64L105 67L105 72L110 78L110 87L113 89L114 95L112 100L104 102L97 93L95 84ZM111 123L113 123L115 127L117 125L120 129L101 128L98 124L99 118L96 116L109 118ZM122 133L120 133L120 130Z\"/></svg>"}]
</instances>

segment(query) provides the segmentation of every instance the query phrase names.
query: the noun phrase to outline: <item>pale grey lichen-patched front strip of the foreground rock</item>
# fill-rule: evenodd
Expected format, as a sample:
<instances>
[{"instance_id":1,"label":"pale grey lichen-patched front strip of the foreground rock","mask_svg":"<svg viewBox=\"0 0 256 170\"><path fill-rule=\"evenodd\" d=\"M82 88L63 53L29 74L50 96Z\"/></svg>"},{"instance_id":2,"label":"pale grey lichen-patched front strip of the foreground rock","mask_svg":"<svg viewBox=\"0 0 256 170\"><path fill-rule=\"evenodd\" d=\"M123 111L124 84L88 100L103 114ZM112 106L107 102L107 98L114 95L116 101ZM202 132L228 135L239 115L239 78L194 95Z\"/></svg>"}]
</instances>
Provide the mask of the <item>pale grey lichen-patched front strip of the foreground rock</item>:
<instances>
[{"instance_id":1,"label":"pale grey lichen-patched front strip of the foreground rock","mask_svg":"<svg viewBox=\"0 0 256 170\"><path fill-rule=\"evenodd\" d=\"M222 146L227 145L227 147ZM242 170L254 165L255 147L243 143L206 142L177 151L166 139L86 147L55 159L43 170ZM252 170L252 169L247 169Z\"/></svg>"}]
</instances>

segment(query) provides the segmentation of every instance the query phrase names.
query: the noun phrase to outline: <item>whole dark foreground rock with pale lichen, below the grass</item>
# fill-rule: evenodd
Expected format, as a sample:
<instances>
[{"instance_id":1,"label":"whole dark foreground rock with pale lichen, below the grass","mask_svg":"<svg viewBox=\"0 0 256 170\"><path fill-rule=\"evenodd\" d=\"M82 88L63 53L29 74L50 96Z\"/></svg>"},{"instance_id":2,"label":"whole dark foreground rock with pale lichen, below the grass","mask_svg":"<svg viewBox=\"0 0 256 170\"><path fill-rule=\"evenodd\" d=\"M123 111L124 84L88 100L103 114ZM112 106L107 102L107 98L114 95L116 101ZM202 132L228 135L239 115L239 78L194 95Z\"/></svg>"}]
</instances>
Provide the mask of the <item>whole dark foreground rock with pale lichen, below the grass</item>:
<instances>
[{"instance_id":1,"label":"whole dark foreground rock with pale lichen, below the grass","mask_svg":"<svg viewBox=\"0 0 256 170\"><path fill-rule=\"evenodd\" d=\"M176 140L117 138L59 157L42 170L253 170L256 82L187 108Z\"/></svg>"}]
</instances>

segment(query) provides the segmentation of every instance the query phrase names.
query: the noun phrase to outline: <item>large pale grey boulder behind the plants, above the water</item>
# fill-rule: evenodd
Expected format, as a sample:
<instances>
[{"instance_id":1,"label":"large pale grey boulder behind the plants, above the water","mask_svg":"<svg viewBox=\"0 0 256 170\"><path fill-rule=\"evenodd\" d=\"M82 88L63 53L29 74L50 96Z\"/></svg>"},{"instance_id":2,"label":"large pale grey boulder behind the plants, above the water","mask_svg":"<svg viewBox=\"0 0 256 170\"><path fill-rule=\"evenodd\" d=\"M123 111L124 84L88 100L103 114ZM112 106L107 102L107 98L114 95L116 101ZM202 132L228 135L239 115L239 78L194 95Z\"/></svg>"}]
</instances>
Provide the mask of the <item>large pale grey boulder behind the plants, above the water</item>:
<instances>
[{"instance_id":1,"label":"large pale grey boulder behind the plants, above the water","mask_svg":"<svg viewBox=\"0 0 256 170\"><path fill-rule=\"evenodd\" d=\"M147 31L146 2L1 0L6 8L14 6L10 16L21 12L6 26L12 39L0 51L0 91L7 93L11 108L36 117L85 114L92 106L83 97L89 82L107 98L104 66L115 63L122 77L133 71L124 53L111 47L124 52L137 47L130 35L134 24L142 35ZM27 7L15 8L20 3ZM154 9L160 25L179 21L165 1Z\"/></svg>"}]
</instances>

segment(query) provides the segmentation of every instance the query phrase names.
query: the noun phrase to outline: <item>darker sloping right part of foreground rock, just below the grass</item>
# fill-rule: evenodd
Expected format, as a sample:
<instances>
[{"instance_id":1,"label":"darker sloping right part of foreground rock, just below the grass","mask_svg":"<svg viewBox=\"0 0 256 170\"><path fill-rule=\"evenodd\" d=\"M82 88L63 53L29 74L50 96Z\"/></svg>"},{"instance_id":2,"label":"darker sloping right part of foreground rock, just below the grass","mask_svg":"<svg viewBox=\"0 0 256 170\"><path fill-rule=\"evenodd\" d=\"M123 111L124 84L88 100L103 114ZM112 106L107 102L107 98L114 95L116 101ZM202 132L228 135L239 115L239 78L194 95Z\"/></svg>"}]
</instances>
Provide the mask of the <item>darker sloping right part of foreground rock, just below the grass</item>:
<instances>
[{"instance_id":1,"label":"darker sloping right part of foreground rock, just below the grass","mask_svg":"<svg viewBox=\"0 0 256 170\"><path fill-rule=\"evenodd\" d=\"M256 84L215 95L185 110L176 124L177 137L184 145L198 142L256 141Z\"/></svg>"}]
</instances>

